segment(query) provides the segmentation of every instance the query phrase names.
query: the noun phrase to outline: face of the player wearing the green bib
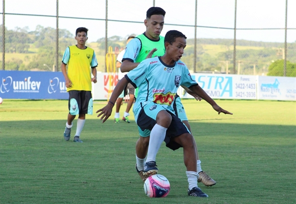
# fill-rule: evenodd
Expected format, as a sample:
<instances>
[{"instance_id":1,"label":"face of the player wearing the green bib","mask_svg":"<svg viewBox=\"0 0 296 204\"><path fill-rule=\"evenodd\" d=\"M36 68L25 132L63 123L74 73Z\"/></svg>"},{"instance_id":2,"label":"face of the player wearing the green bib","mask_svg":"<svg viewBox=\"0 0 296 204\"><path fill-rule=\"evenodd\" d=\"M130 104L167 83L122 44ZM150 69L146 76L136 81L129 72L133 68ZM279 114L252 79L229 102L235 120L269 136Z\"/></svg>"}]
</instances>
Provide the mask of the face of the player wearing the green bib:
<instances>
[{"instance_id":1,"label":"face of the player wearing the green bib","mask_svg":"<svg viewBox=\"0 0 296 204\"><path fill-rule=\"evenodd\" d=\"M150 18L145 19L144 23L146 26L146 36L157 40L163 29L164 16L152 15Z\"/></svg>"}]
</instances>

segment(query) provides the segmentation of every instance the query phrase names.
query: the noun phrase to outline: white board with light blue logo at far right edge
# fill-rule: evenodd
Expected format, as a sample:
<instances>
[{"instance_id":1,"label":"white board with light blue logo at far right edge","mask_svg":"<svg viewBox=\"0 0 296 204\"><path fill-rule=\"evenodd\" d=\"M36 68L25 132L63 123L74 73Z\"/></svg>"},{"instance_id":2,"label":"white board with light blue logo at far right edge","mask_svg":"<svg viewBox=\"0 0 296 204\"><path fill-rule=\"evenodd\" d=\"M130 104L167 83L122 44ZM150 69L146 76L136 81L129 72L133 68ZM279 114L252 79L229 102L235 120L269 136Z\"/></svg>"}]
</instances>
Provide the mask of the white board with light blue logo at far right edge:
<instances>
[{"instance_id":1,"label":"white board with light blue logo at far right edge","mask_svg":"<svg viewBox=\"0 0 296 204\"><path fill-rule=\"evenodd\" d=\"M259 100L296 100L296 78L258 77Z\"/></svg>"}]
</instances>

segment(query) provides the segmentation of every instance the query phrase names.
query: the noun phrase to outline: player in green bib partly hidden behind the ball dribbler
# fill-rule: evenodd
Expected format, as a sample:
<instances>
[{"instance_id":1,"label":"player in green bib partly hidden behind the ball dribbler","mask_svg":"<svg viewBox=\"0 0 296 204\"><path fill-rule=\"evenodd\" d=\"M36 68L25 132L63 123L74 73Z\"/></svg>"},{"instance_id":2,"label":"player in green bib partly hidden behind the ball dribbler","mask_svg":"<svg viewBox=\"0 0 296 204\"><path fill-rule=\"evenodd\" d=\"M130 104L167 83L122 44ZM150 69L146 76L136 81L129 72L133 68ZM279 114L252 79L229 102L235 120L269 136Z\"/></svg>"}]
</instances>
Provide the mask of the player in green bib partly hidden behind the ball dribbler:
<instances>
[{"instance_id":1,"label":"player in green bib partly hidden behind the ball dribbler","mask_svg":"<svg viewBox=\"0 0 296 204\"><path fill-rule=\"evenodd\" d=\"M164 55L164 37L160 36L163 29L164 16L165 11L162 8L151 7L147 10L146 19L144 20L146 31L143 34L137 36L127 45L126 53L124 55L124 59L122 59L122 64L120 66L120 70L122 72L133 70L144 59ZM192 94L192 91L188 93ZM198 97L197 95L193 96L195 98ZM137 89L135 97L137 97ZM176 114L182 120L182 122L186 124L189 131L191 132L185 109L181 103L181 99L178 95L176 97ZM150 131L142 131L139 129L139 133L140 138L136 142L136 170L139 173L141 179L145 181L147 179L147 176L143 175L143 169L149 146ZM216 184L216 182L202 170L201 161L199 159L198 150L195 142L194 145L196 147L197 154L197 168L199 173L198 181L202 182L206 186L213 186Z\"/></svg>"}]
</instances>

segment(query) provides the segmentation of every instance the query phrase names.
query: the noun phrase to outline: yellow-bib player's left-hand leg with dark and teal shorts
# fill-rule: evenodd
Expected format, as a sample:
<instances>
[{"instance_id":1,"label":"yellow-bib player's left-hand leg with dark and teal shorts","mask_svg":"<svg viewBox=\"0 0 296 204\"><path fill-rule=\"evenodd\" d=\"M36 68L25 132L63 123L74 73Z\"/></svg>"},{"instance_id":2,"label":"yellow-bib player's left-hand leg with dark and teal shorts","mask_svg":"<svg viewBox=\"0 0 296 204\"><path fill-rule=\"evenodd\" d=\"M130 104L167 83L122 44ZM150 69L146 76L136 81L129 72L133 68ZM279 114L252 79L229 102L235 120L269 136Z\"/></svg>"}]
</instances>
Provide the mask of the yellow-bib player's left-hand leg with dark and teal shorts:
<instances>
[{"instance_id":1,"label":"yellow-bib player's left-hand leg with dark and teal shorts","mask_svg":"<svg viewBox=\"0 0 296 204\"><path fill-rule=\"evenodd\" d=\"M78 103L77 101L79 100L79 94L78 91L69 91L69 100L68 100L68 109L69 109L69 113L67 116L67 122L66 122L66 128L64 131L64 139L66 141L70 140L70 136L71 136L71 128L72 128L72 122L75 119L76 115L79 114L78 111Z\"/></svg>"}]
</instances>

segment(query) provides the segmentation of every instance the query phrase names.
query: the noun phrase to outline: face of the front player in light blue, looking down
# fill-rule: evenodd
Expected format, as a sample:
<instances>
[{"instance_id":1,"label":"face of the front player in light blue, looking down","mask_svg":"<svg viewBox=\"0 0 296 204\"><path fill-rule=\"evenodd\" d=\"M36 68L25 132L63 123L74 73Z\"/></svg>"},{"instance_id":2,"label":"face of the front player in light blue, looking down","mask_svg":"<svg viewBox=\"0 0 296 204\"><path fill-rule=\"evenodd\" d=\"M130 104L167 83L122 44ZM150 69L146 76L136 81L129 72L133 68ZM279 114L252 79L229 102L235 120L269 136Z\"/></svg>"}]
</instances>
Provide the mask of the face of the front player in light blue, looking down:
<instances>
[{"instance_id":1,"label":"face of the front player in light blue, looking down","mask_svg":"<svg viewBox=\"0 0 296 204\"><path fill-rule=\"evenodd\" d=\"M182 55L184 54L184 49L186 47L186 39L182 37L176 38L176 41L174 43L169 44L168 43L168 49L166 49L166 52L168 52L169 56L172 60L177 62L181 59Z\"/></svg>"}]
</instances>

